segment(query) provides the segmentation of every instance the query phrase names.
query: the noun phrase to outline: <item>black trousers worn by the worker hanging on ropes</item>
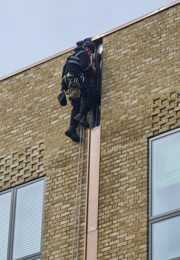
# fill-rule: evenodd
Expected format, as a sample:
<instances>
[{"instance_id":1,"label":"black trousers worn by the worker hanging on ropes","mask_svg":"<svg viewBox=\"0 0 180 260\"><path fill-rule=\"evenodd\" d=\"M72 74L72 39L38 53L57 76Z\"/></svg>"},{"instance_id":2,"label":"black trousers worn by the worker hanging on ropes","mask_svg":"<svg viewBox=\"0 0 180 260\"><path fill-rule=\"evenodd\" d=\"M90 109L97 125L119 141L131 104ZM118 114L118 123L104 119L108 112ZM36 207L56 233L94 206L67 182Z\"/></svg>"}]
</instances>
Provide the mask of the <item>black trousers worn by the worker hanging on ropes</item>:
<instances>
[{"instance_id":1,"label":"black trousers worn by the worker hanging on ropes","mask_svg":"<svg viewBox=\"0 0 180 260\"><path fill-rule=\"evenodd\" d=\"M91 110L91 108L94 107L98 102L98 100L100 99L100 94L95 87L91 89L82 87L81 95L84 98L83 108L81 110L80 110L81 96L78 99L72 100L71 102L73 109L71 111L70 127L74 126L75 128L77 128L78 122L74 120L74 117L79 113L83 115L87 115L87 113Z\"/></svg>"}]
</instances>

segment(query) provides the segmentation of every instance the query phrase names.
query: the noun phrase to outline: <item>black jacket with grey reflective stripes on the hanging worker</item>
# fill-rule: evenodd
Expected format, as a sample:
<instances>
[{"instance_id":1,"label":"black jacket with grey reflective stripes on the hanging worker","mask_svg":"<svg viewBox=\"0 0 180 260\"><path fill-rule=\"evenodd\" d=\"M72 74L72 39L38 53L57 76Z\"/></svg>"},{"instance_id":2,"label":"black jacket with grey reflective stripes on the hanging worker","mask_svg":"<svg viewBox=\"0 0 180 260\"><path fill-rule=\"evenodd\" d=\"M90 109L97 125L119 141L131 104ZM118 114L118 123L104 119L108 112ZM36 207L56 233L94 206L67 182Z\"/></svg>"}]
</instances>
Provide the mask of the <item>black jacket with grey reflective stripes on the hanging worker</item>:
<instances>
[{"instance_id":1,"label":"black jacket with grey reflective stripes on the hanging worker","mask_svg":"<svg viewBox=\"0 0 180 260\"><path fill-rule=\"evenodd\" d=\"M72 56L69 56L68 65L67 65L67 72L79 74L83 73L91 73L93 68L89 65L90 58L85 49L82 47L76 47L74 49L75 53ZM63 76L65 73L66 64L63 67Z\"/></svg>"}]
</instances>

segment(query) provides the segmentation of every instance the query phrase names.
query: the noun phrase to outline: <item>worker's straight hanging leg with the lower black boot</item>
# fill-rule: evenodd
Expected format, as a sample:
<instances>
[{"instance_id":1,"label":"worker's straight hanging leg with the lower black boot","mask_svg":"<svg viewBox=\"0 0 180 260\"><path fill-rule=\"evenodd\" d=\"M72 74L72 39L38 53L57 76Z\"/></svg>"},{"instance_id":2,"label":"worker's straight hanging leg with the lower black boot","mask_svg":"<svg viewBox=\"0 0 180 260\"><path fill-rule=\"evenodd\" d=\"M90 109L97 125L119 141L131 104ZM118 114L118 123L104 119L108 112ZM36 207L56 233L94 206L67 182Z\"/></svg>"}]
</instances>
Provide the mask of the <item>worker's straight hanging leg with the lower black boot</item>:
<instances>
[{"instance_id":1,"label":"worker's straight hanging leg with the lower black boot","mask_svg":"<svg viewBox=\"0 0 180 260\"><path fill-rule=\"evenodd\" d=\"M81 98L72 100L73 109L71 111L70 128L65 131L65 135L70 137L74 142L80 142L80 137L77 135L78 122L74 120L74 117L79 113Z\"/></svg>"}]
</instances>

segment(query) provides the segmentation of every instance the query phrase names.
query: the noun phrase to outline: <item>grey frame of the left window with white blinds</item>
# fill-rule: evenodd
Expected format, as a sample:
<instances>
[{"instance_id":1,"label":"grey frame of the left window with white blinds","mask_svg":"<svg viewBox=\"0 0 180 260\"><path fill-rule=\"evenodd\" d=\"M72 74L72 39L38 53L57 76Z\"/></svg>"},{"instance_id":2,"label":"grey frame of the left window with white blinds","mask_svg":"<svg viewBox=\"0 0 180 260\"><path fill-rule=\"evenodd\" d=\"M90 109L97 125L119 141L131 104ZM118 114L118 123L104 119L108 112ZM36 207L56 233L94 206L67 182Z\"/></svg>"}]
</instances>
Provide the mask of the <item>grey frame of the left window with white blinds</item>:
<instances>
[{"instance_id":1,"label":"grey frame of the left window with white blinds","mask_svg":"<svg viewBox=\"0 0 180 260\"><path fill-rule=\"evenodd\" d=\"M15 209L16 209L16 191L19 188L27 186L29 184L35 183L37 181L44 180L43 187L43 208L42 208L42 223L41 223L41 245L40 251L33 253L31 255L16 258L15 260L35 260L39 258L41 260L42 255L42 242L43 242L43 223L44 223L44 207L45 207L45 187L46 187L46 177L40 177L34 180L26 181L20 185L14 186L10 189L0 192L0 196L4 193L11 191L11 205L10 205L10 218L9 218L9 233L8 233L8 249L7 249L7 260L12 260L12 248L13 248L13 232L14 232L14 222L15 222Z\"/></svg>"}]
</instances>

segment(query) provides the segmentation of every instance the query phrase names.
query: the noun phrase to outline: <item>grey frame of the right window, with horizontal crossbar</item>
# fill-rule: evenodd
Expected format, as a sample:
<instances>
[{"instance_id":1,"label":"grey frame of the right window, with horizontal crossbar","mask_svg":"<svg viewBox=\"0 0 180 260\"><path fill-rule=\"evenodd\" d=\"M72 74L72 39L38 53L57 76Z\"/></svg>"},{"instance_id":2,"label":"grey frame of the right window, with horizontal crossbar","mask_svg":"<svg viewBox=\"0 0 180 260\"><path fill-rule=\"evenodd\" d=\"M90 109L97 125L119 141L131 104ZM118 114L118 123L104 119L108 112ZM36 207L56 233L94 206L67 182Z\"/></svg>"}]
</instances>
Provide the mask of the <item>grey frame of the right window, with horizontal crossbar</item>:
<instances>
[{"instance_id":1,"label":"grey frame of the right window, with horizontal crossbar","mask_svg":"<svg viewBox=\"0 0 180 260\"><path fill-rule=\"evenodd\" d=\"M158 215L152 215L152 141L160 139L164 136L168 136L170 134L180 132L180 128L176 128L173 130L170 130L168 132L156 135L154 137L149 138L149 260L152 260L152 224L156 222L160 222L161 220L170 219L172 217L180 216L180 208L166 211L164 213L158 214ZM169 260L180 260L179 257L171 258Z\"/></svg>"}]
</instances>

